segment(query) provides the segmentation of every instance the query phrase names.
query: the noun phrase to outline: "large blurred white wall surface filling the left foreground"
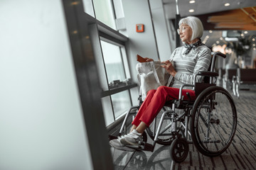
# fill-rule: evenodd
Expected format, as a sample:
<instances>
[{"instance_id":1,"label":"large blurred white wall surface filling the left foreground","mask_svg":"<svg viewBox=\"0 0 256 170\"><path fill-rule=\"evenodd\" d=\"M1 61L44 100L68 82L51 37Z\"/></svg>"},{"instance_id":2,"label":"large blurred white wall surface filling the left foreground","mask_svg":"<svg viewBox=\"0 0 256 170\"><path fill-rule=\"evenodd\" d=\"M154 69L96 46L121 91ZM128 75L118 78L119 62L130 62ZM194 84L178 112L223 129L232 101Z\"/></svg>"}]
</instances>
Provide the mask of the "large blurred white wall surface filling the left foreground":
<instances>
[{"instance_id":1,"label":"large blurred white wall surface filling the left foreground","mask_svg":"<svg viewBox=\"0 0 256 170\"><path fill-rule=\"evenodd\" d=\"M0 169L92 169L60 0L0 1Z\"/></svg>"}]
</instances>

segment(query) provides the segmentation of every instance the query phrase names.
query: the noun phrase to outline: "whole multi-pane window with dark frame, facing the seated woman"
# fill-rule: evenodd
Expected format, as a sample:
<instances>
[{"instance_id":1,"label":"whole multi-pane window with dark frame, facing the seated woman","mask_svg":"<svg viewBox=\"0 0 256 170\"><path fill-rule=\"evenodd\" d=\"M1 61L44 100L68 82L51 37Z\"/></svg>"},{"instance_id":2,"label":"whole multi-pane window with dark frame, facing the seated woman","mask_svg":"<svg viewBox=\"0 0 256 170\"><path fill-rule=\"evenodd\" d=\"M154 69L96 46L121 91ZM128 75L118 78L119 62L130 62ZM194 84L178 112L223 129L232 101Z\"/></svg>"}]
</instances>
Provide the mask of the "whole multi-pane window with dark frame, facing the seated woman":
<instances>
[{"instance_id":1,"label":"whole multi-pane window with dark frame, facing the seated woman","mask_svg":"<svg viewBox=\"0 0 256 170\"><path fill-rule=\"evenodd\" d=\"M127 61L125 42L128 38L116 29L115 18L124 17L122 2L108 0L83 0L87 18L91 24L92 43L102 86L102 108L108 126L124 115L132 106L132 83ZM114 8L114 6L115 8ZM94 17L96 20L94 20ZM99 22L100 21L100 22ZM97 30L96 30L97 29ZM100 38L100 39L99 39ZM99 42L100 40L100 42Z\"/></svg>"}]
</instances>

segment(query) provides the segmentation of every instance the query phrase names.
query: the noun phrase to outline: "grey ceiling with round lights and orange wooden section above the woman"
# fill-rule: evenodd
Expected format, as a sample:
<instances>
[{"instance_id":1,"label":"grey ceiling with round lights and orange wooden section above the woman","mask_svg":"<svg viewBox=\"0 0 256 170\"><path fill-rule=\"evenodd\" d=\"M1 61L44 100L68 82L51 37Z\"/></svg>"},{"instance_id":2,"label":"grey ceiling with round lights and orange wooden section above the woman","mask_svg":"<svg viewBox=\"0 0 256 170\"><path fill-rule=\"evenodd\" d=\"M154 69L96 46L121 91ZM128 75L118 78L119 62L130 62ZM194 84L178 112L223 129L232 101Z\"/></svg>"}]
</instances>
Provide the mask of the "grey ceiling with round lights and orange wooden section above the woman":
<instances>
[{"instance_id":1,"label":"grey ceiling with round lights and orange wooden section above the woman","mask_svg":"<svg viewBox=\"0 0 256 170\"><path fill-rule=\"evenodd\" d=\"M251 40L256 37L256 0L178 0L178 12L181 18L198 16L205 31L202 40L208 47L228 44L223 37L223 30L243 33L240 37ZM224 4L229 3L229 6ZM169 20L176 18L176 0L163 0L164 11ZM194 11L189 12L190 9ZM247 30L247 32L245 32ZM209 32L210 31L210 32ZM226 31L225 31L226 32Z\"/></svg>"}]
</instances>

